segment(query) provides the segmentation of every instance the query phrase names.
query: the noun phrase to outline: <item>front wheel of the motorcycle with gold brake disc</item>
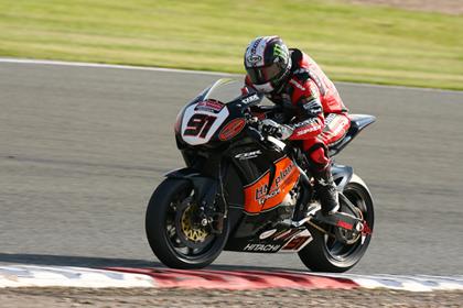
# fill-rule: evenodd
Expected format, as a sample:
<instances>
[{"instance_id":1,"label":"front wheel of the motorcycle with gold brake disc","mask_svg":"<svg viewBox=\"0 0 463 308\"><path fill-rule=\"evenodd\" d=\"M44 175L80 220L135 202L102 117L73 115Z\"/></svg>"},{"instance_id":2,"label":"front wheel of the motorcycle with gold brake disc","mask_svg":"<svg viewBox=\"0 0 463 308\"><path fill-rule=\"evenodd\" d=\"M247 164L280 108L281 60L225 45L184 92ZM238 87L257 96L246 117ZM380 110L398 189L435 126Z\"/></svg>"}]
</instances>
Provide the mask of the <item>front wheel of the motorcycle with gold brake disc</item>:
<instances>
[{"instance_id":1,"label":"front wheel of the motorcycle with gold brake disc","mask_svg":"<svg viewBox=\"0 0 463 308\"><path fill-rule=\"evenodd\" d=\"M148 204L146 231L155 256L173 268L202 268L222 252L228 237L228 223L222 234L198 223L192 183L168 178L158 186Z\"/></svg>"}]
</instances>

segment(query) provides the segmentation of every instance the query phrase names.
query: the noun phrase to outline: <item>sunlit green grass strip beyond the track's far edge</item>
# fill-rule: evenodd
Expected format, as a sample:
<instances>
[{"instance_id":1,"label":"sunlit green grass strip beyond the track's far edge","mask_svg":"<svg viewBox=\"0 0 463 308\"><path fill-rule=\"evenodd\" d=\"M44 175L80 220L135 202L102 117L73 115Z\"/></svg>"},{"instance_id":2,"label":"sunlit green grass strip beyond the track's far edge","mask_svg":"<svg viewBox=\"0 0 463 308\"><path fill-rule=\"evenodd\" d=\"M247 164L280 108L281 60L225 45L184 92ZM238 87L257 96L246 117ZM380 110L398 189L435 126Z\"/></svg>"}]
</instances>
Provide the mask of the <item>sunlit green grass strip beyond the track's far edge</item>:
<instances>
[{"instance_id":1,"label":"sunlit green grass strip beyond the track's far edge","mask_svg":"<svg viewBox=\"0 0 463 308\"><path fill-rule=\"evenodd\" d=\"M244 73L278 34L335 80L463 90L463 16L337 0L0 0L0 56Z\"/></svg>"}]
</instances>

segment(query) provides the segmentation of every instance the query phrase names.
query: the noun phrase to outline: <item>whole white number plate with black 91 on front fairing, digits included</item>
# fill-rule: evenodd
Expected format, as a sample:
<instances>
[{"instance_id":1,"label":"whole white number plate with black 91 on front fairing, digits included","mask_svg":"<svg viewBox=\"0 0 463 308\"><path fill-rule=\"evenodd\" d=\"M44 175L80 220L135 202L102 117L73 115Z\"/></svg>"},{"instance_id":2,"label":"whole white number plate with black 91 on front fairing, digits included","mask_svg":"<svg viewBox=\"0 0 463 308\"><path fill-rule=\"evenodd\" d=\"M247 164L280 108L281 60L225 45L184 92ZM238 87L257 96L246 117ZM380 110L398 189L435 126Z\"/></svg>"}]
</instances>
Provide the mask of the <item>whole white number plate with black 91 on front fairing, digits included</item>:
<instances>
[{"instance_id":1,"label":"whole white number plate with black 91 on front fairing, digits included","mask_svg":"<svg viewBox=\"0 0 463 308\"><path fill-rule=\"evenodd\" d=\"M191 145L206 144L228 114L226 106L215 100L190 106L182 119L182 139Z\"/></svg>"}]
</instances>

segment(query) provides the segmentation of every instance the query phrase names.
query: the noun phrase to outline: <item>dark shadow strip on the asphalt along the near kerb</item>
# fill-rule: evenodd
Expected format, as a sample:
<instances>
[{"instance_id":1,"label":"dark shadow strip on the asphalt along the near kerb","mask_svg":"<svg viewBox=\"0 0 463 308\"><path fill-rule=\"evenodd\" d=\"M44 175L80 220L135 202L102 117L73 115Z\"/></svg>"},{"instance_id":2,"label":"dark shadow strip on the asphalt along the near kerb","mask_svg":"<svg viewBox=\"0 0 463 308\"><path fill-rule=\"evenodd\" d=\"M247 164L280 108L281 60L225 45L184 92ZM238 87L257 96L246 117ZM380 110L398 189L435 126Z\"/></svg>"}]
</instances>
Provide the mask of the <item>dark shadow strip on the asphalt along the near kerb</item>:
<instances>
[{"instance_id":1,"label":"dark shadow strip on the asphalt along the near kerb","mask_svg":"<svg viewBox=\"0 0 463 308\"><path fill-rule=\"evenodd\" d=\"M160 262L152 262L147 260L130 260L130 258L109 258L109 257L91 257L91 256L75 256L75 255L51 255L51 254L15 254L15 253L0 253L0 263L14 263L25 265L47 265L47 266L76 266L76 267L165 267ZM213 264L207 270L216 271L297 271L294 268L284 267L263 267L263 266L241 266L241 265L220 265Z\"/></svg>"}]
</instances>

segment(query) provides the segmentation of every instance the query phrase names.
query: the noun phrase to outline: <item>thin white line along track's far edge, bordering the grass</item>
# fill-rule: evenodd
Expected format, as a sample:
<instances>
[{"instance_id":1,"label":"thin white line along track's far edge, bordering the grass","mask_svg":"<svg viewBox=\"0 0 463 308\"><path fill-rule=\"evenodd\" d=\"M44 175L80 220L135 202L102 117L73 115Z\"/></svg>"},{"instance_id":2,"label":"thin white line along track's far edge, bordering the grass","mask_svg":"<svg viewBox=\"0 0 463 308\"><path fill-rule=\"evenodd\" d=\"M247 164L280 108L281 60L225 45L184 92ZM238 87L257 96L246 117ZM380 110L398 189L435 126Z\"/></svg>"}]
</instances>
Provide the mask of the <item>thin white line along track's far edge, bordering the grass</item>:
<instances>
[{"instance_id":1,"label":"thin white line along track's far edge, bordering the grass","mask_svg":"<svg viewBox=\"0 0 463 308\"><path fill-rule=\"evenodd\" d=\"M118 64L8 58L8 57L0 57L0 63L57 65L57 66L75 66L75 67L90 67L90 68L116 68L116 69L149 70L149 72L163 72L163 73L182 73L182 74L192 74L192 75L229 76L229 77L243 76L243 74L230 74L230 73L207 72L207 70L189 70L189 69L150 67L150 66L131 66L131 65L118 65ZM362 86L362 87L369 87L369 88L379 88L379 89L399 89L399 90L418 90L418 91L430 91L430 92L463 94L462 91L456 91L456 90L417 88L417 87L405 87L405 86L386 86L386 85L373 85L373 84L364 84L364 82L336 81L336 84L354 86L354 87Z\"/></svg>"}]
</instances>

